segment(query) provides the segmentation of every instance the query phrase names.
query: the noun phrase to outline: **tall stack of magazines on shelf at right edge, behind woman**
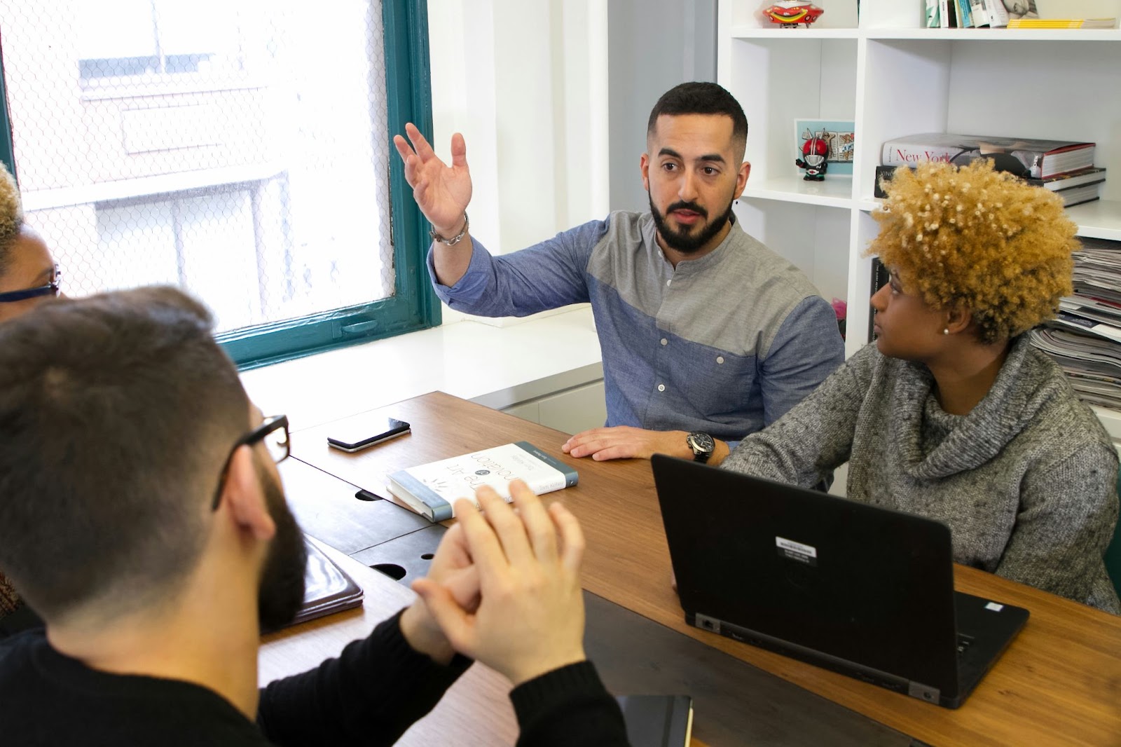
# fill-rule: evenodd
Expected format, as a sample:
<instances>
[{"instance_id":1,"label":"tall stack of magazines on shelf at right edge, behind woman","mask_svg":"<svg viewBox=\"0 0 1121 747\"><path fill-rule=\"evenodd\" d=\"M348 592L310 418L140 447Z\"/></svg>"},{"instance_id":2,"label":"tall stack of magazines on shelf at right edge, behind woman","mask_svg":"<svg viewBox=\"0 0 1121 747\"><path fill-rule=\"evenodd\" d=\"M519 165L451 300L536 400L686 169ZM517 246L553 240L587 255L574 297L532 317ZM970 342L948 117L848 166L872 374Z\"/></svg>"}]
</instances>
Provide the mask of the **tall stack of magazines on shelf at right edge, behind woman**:
<instances>
[{"instance_id":1,"label":"tall stack of magazines on shelf at right edge, behind woman","mask_svg":"<svg viewBox=\"0 0 1121 747\"><path fill-rule=\"evenodd\" d=\"M1078 397L1121 409L1121 242L1083 239L1074 255L1074 295L1058 317L1030 332L1071 379Z\"/></svg>"}]
</instances>

